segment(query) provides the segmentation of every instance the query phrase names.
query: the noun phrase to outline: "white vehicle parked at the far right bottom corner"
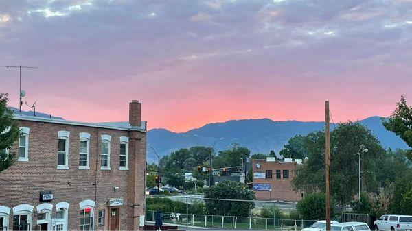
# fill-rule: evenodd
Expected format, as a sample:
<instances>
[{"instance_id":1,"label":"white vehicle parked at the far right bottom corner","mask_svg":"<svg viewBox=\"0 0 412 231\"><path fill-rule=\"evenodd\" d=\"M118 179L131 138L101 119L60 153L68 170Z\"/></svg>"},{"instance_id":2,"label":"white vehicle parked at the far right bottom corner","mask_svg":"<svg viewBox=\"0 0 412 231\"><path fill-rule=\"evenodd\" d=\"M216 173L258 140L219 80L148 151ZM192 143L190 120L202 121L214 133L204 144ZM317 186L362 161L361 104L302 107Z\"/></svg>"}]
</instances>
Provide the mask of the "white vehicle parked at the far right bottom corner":
<instances>
[{"instance_id":1,"label":"white vehicle parked at the far right bottom corner","mask_svg":"<svg viewBox=\"0 0 412 231\"><path fill-rule=\"evenodd\" d=\"M385 214L374 221L374 230L412 231L412 216Z\"/></svg>"}]
</instances>

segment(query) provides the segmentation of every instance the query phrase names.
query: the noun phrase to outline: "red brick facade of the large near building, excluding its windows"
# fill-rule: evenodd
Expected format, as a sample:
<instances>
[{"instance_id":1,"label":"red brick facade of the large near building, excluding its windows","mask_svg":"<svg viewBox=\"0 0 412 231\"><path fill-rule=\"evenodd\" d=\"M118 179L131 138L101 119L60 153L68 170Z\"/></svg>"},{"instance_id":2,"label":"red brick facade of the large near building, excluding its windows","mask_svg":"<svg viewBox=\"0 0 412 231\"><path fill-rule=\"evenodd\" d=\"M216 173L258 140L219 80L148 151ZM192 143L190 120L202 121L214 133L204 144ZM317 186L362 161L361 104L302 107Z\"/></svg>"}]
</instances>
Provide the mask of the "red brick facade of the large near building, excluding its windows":
<instances>
[{"instance_id":1,"label":"red brick facade of the large near building, excluding its windows","mask_svg":"<svg viewBox=\"0 0 412 231\"><path fill-rule=\"evenodd\" d=\"M43 203L52 204L53 208L47 217L47 230L54 229L56 204L67 202L67 230L80 229L80 202L95 202L92 208L93 230L111 230L110 224L115 222L111 208L119 208L117 230L141 229L139 219L144 215L144 169L146 167L146 126L141 127L140 104L130 103L131 127L109 127L105 125L76 123L56 119L36 119L35 117L19 117L19 126L29 127L28 161L16 161L0 173L0 217L5 207L10 208L8 230L13 228L13 207L21 204L34 206L31 217L31 230L39 230L37 226L36 206ZM34 118L34 119L33 119ZM58 131L69 133L68 165L69 169L57 168L58 163ZM89 169L79 169L80 132L90 134ZM111 136L110 170L101 169L102 135ZM120 137L128 137L128 170L121 170ZM19 155L19 144L9 151ZM51 202L40 202L41 191L51 191ZM108 199L123 199L122 206L109 206ZM89 201L90 202L90 201ZM3 206L3 207L1 207ZM104 210L104 225L98 225L98 210ZM83 211L84 212L84 211ZM116 214L116 212L114 213ZM112 224L113 225L113 224ZM6 226L3 224L3 226ZM115 225L113 225L114 227ZM113 229L113 228L112 228Z\"/></svg>"}]
</instances>

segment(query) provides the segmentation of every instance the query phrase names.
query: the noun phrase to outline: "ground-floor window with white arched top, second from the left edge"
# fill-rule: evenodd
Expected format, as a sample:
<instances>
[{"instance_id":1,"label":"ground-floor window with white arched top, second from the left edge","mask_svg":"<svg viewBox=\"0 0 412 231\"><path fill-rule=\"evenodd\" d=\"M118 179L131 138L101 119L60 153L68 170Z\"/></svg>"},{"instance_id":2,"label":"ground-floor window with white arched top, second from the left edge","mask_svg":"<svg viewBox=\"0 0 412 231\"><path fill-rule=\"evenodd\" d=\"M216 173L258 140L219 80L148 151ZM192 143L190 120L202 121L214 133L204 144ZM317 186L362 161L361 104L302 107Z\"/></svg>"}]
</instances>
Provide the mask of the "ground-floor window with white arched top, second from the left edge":
<instances>
[{"instance_id":1,"label":"ground-floor window with white arched top, second from the left edge","mask_svg":"<svg viewBox=\"0 0 412 231\"><path fill-rule=\"evenodd\" d=\"M13 230L32 230L33 206L21 204L13 207Z\"/></svg>"}]
</instances>

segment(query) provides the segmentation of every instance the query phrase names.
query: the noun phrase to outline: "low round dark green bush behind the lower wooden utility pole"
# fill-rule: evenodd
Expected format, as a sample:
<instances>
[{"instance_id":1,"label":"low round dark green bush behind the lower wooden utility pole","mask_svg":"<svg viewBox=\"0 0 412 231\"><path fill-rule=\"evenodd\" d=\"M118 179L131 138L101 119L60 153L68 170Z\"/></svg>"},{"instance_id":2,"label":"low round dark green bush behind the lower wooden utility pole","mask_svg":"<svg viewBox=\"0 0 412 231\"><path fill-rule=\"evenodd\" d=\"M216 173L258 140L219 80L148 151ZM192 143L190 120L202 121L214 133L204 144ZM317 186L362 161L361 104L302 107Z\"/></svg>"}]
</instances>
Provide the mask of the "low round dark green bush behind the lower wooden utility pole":
<instances>
[{"instance_id":1,"label":"low round dark green bush behind the lower wooden utility pole","mask_svg":"<svg viewBox=\"0 0 412 231\"><path fill-rule=\"evenodd\" d=\"M297 211L305 220L324 220L326 214L325 193L310 193L297 202ZM330 217L334 217L334 202L330 203Z\"/></svg>"}]
</instances>

